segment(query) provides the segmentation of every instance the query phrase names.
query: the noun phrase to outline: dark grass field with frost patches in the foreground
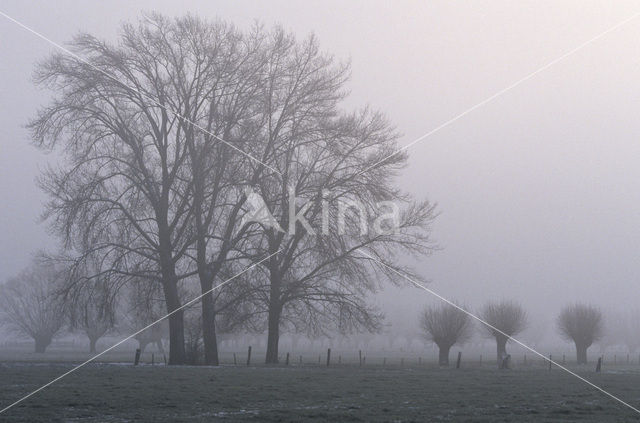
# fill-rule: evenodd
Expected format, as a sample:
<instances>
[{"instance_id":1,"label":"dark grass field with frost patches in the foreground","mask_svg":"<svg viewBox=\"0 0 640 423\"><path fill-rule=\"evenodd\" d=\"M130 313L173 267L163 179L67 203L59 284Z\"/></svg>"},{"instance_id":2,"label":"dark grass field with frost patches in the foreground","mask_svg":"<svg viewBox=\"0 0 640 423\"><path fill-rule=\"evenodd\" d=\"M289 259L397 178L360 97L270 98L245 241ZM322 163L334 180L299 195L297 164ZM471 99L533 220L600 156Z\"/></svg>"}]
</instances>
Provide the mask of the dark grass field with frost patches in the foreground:
<instances>
[{"instance_id":1,"label":"dark grass field with frost patches in the foreground","mask_svg":"<svg viewBox=\"0 0 640 423\"><path fill-rule=\"evenodd\" d=\"M70 369L0 365L3 406ZM637 369L580 371L634 406ZM90 364L0 415L15 422L636 421L560 369L490 366L165 367Z\"/></svg>"}]
</instances>

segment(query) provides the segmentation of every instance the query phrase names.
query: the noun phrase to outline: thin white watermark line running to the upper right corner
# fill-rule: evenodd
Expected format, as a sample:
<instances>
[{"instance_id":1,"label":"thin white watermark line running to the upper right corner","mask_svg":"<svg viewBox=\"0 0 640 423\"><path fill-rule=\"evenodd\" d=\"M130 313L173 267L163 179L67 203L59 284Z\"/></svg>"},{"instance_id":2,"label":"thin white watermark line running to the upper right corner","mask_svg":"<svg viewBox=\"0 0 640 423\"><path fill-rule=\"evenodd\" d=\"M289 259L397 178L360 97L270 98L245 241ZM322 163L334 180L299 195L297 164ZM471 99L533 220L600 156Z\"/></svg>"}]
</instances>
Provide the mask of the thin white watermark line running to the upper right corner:
<instances>
[{"instance_id":1,"label":"thin white watermark line running to the upper right corner","mask_svg":"<svg viewBox=\"0 0 640 423\"><path fill-rule=\"evenodd\" d=\"M584 47L588 46L589 44L593 43L594 41L597 41L598 39L604 37L605 35L607 35L608 33L620 28L621 26L627 24L628 22L632 21L633 19L637 18L638 16L640 16L640 12L632 15L630 18L627 18L617 24L615 24L614 26L610 27L609 29L607 29L604 32L601 32L600 34L596 35L595 37L583 42L582 44L580 44L579 46L569 50L568 52L564 53L562 56L552 60L551 62L547 63L546 65L542 66L541 68L531 72L530 74L526 75L525 77L517 80L516 82L512 83L511 85L501 89L500 91L498 91L497 93L493 94L490 97L487 97L486 99L482 100L479 103L476 103L475 105L469 107L467 110L465 110L464 112L452 117L451 119L447 120L444 123L441 123L440 125L436 126L435 128L433 128L432 130L430 130L429 132L427 132L426 134L423 134L421 136L419 136L418 138L416 138L415 140L411 141L409 144L400 147L399 149L397 149L396 151L394 151L393 153L389 154L388 156L384 157L381 160L378 160L377 162L375 162L373 165L367 167L366 169L362 170L359 175L373 169L374 167L378 166L380 163L385 162L387 160L389 160L391 157L400 154L401 152L407 150L408 148L412 147L413 145L419 143L420 141L423 141L424 139L430 137L431 135L435 134L436 132L440 131L441 129L446 128L447 126L451 125L452 123L456 122L457 120L463 118L464 116L468 115L469 113L473 112L474 110L492 102L493 100L495 100L496 98L502 96L503 94L511 91L512 89L514 89L515 87L517 87L518 85L522 84L523 82L528 81L529 79L533 78L534 76L536 76L537 74L539 74L540 72L543 72L545 70L547 70L548 68L552 67L553 65L555 65L556 63L566 59L567 57L575 54L576 52L578 52L579 50L583 49Z\"/></svg>"}]
</instances>

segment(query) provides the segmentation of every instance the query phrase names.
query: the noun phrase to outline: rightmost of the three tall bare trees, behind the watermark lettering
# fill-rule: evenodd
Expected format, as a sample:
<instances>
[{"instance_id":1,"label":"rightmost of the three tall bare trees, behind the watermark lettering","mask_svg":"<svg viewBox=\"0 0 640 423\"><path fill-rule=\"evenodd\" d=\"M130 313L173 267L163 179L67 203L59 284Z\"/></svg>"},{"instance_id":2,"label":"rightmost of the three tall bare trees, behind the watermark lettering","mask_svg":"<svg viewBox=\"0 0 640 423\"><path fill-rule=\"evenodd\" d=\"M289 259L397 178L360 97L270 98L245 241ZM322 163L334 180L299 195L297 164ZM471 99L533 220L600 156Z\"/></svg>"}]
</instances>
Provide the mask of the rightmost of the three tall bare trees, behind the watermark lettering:
<instances>
[{"instance_id":1,"label":"rightmost of the three tall bare trees, behind the watermark lettering","mask_svg":"<svg viewBox=\"0 0 640 423\"><path fill-rule=\"evenodd\" d=\"M397 134L384 116L341 109L346 65L322 53L315 38L299 42L281 29L267 58L258 111L279 175L254 187L273 219L260 222L263 233L252 244L258 257L270 256L256 278L257 307L267 315L266 362L276 363L283 325L378 330L381 315L367 295L400 275L418 277L394 254L429 252L434 208L394 187L406 155L391 155ZM385 214L397 219L381 223Z\"/></svg>"}]
</instances>

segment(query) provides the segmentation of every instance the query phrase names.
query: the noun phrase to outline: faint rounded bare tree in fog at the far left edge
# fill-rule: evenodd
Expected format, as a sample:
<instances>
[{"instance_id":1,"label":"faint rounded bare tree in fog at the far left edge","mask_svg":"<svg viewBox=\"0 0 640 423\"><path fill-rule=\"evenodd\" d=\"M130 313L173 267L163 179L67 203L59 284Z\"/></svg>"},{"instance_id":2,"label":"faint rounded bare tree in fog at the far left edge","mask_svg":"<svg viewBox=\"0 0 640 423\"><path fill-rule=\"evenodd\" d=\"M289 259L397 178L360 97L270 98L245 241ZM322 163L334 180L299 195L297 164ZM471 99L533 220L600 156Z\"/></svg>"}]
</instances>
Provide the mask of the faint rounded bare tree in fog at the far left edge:
<instances>
[{"instance_id":1,"label":"faint rounded bare tree in fog at the far left edge","mask_svg":"<svg viewBox=\"0 0 640 423\"><path fill-rule=\"evenodd\" d=\"M33 264L0 287L2 322L33 338L36 353L44 353L64 326L64 307L56 295L59 283L57 269Z\"/></svg>"}]
</instances>

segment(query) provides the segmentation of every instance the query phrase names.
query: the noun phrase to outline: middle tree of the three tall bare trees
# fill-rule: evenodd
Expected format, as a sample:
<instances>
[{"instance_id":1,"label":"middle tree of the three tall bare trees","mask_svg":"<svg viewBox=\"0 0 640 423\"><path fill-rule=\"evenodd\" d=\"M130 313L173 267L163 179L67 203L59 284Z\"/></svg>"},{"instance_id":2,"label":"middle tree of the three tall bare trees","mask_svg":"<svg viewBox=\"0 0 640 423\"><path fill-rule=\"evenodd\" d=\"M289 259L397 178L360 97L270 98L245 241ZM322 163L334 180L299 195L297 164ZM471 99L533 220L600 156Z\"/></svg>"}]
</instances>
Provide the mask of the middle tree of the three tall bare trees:
<instances>
[{"instance_id":1,"label":"middle tree of the three tall bare trees","mask_svg":"<svg viewBox=\"0 0 640 423\"><path fill-rule=\"evenodd\" d=\"M255 107L267 63L266 34L259 26L240 32L222 21L153 14L136 37L148 39L153 57L167 60L175 70L170 83L181 106L177 131L186 151L179 174L187 182L177 189L191 219L186 254L203 295L204 360L217 365L217 317L238 307L247 292L235 286L212 288L235 269L229 262L247 258L244 244L256 225L243 223L246 195L241 188L269 171L262 163L272 154Z\"/></svg>"}]
</instances>

